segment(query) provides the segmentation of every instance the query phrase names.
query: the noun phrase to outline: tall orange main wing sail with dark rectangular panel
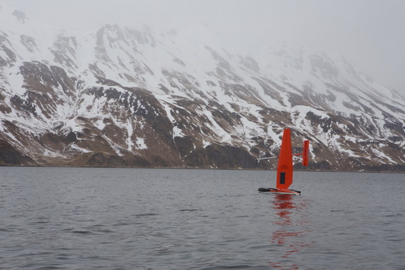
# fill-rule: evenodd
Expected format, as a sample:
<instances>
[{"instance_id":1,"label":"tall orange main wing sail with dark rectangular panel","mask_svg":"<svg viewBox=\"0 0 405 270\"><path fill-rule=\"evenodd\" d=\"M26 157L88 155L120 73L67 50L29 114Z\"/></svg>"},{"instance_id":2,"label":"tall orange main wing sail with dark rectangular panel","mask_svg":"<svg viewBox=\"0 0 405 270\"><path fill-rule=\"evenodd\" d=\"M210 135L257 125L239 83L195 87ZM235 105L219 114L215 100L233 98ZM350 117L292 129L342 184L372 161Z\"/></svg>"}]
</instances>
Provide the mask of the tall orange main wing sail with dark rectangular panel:
<instances>
[{"instance_id":1,"label":"tall orange main wing sail with dark rectangular panel","mask_svg":"<svg viewBox=\"0 0 405 270\"><path fill-rule=\"evenodd\" d=\"M277 189L288 189L293 183L293 149L290 128L284 129L277 165Z\"/></svg>"}]
</instances>

